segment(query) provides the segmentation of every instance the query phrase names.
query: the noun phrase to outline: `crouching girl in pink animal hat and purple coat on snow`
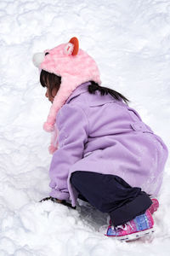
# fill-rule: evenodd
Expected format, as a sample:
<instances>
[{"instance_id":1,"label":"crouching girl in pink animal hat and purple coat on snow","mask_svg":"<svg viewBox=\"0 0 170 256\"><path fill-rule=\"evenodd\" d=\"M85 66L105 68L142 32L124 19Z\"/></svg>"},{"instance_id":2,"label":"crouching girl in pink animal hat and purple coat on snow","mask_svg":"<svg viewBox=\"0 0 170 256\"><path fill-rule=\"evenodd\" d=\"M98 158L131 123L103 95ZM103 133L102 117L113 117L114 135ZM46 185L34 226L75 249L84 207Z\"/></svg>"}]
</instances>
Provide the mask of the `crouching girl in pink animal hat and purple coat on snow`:
<instances>
[{"instance_id":1,"label":"crouching girl in pink animal hat and purple coat on snow","mask_svg":"<svg viewBox=\"0 0 170 256\"><path fill-rule=\"evenodd\" d=\"M131 240L153 232L167 146L127 98L101 86L94 59L77 38L33 56L52 102L51 199L88 201L111 217L106 236Z\"/></svg>"}]
</instances>

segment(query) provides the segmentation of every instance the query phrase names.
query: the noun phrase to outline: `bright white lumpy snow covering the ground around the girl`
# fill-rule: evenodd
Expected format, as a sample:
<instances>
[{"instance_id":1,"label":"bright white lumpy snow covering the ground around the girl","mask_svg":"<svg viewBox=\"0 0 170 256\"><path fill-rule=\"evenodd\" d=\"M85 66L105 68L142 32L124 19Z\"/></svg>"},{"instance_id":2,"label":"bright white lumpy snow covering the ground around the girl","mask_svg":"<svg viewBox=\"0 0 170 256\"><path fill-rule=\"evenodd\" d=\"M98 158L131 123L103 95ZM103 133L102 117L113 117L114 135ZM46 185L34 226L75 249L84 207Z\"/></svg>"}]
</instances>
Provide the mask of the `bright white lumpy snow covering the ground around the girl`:
<instances>
[{"instance_id":1,"label":"bright white lumpy snow covering the ground around the girl","mask_svg":"<svg viewBox=\"0 0 170 256\"><path fill-rule=\"evenodd\" d=\"M170 148L170 2L168 0L1 0L0 255L112 256L170 254L169 159L154 213L156 232L138 241L103 235L107 214L39 203L48 196L50 103L31 58L80 40L104 86L131 100Z\"/></svg>"}]
</instances>

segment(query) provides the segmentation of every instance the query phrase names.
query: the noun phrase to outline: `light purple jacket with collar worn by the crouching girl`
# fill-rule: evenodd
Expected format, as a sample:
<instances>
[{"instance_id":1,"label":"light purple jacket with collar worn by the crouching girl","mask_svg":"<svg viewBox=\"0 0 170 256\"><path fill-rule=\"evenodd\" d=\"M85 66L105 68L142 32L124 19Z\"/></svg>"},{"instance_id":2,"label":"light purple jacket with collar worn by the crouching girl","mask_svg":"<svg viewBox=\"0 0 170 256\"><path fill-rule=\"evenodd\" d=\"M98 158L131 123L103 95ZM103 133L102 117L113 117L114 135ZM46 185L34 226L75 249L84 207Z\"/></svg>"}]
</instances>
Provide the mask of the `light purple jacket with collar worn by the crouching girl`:
<instances>
[{"instance_id":1,"label":"light purple jacket with collar worn by the crouching girl","mask_svg":"<svg viewBox=\"0 0 170 256\"><path fill-rule=\"evenodd\" d=\"M122 177L131 186L157 195L167 161L167 146L136 110L110 94L89 94L88 84L77 87L56 117L59 149L49 169L51 196L71 200L72 172L87 171Z\"/></svg>"}]
</instances>

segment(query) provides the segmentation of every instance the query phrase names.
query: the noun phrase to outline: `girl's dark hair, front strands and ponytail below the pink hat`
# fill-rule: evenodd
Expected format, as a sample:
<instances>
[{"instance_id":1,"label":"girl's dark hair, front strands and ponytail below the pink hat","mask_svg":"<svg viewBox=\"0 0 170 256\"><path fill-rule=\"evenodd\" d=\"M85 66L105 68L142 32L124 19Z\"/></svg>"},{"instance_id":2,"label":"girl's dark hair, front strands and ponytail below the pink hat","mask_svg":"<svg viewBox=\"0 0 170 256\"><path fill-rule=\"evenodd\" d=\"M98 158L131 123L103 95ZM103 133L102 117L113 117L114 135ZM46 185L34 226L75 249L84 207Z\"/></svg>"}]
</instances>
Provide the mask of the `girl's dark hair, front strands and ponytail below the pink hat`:
<instances>
[{"instance_id":1,"label":"girl's dark hair, front strands and ponytail below the pink hat","mask_svg":"<svg viewBox=\"0 0 170 256\"><path fill-rule=\"evenodd\" d=\"M88 85L88 92L91 94L95 94L96 90L100 91L100 95L104 96L108 93L111 94L116 100L118 101L124 101L126 104L127 102L130 102L125 96L123 96L121 93L117 92L116 90L112 90L110 88L100 86L99 84L95 83L94 81L89 81L91 84ZM54 73L48 73L47 71L42 69L42 72L40 74L40 83L43 87L47 87L49 84L49 93L52 95L52 90L54 88L57 88L59 90L60 84L61 84L61 77L57 76Z\"/></svg>"}]
</instances>

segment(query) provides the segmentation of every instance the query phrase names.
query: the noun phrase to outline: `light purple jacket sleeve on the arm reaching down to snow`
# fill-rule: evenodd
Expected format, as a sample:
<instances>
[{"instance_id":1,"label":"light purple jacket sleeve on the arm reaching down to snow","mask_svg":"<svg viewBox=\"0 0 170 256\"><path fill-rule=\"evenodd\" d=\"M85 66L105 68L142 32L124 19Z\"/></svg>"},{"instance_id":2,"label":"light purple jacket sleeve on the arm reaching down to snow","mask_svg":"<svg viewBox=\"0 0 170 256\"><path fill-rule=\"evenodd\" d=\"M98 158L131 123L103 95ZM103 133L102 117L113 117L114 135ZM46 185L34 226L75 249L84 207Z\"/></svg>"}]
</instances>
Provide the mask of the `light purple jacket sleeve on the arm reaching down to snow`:
<instances>
[{"instance_id":1,"label":"light purple jacket sleeve on the arm reaching down to snow","mask_svg":"<svg viewBox=\"0 0 170 256\"><path fill-rule=\"evenodd\" d=\"M59 149L53 154L49 168L52 191L49 195L60 200L70 198L67 178L70 167L81 160L88 142L88 119L82 108L65 104L57 114Z\"/></svg>"}]
</instances>

